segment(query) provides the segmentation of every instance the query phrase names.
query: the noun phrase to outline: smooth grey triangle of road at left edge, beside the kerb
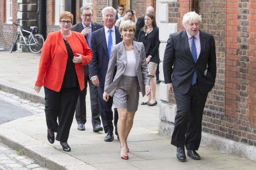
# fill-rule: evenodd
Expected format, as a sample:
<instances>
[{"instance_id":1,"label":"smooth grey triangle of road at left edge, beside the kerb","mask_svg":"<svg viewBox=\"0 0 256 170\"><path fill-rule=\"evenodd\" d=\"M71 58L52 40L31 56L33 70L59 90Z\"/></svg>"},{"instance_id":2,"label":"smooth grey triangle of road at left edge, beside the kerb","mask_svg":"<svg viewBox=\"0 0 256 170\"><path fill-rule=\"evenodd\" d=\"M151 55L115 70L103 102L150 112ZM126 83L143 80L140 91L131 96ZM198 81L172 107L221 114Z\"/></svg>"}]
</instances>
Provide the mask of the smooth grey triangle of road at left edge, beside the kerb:
<instances>
[{"instance_id":1,"label":"smooth grey triangle of road at left edge, beside the kerb","mask_svg":"<svg viewBox=\"0 0 256 170\"><path fill-rule=\"evenodd\" d=\"M0 99L0 124L13 121L17 118L33 115L29 111L12 105Z\"/></svg>"}]
</instances>

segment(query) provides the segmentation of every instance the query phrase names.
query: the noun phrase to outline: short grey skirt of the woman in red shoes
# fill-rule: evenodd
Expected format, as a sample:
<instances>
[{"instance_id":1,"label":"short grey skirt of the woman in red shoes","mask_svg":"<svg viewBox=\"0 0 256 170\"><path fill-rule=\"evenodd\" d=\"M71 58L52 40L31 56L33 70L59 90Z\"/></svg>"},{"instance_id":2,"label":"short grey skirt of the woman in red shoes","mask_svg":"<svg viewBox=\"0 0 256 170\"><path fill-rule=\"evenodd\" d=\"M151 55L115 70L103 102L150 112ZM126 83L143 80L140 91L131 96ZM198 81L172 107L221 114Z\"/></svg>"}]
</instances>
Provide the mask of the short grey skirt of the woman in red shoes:
<instances>
[{"instance_id":1,"label":"short grey skirt of the woman in red shoes","mask_svg":"<svg viewBox=\"0 0 256 170\"><path fill-rule=\"evenodd\" d=\"M114 108L127 108L128 112L136 112L139 105L139 89L137 76L123 75L113 95Z\"/></svg>"}]
</instances>

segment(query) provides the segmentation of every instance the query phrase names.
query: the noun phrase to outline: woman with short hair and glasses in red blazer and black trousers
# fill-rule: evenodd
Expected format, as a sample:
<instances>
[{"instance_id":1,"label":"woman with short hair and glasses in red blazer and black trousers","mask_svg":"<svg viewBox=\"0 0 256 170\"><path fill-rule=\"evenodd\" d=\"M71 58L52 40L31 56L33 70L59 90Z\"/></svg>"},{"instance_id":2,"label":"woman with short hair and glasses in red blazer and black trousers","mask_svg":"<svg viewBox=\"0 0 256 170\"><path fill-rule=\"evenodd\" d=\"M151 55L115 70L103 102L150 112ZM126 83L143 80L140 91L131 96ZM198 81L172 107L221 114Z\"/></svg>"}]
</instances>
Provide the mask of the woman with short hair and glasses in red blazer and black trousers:
<instances>
[{"instance_id":1,"label":"woman with short hair and glasses in red blazer and black trousers","mask_svg":"<svg viewBox=\"0 0 256 170\"><path fill-rule=\"evenodd\" d=\"M79 90L84 89L83 65L90 63L92 52L83 35L70 30L73 14L62 12L59 23L60 31L50 33L43 45L35 91L44 86L48 141L54 143L57 132L56 140L70 151L67 140Z\"/></svg>"}]
</instances>

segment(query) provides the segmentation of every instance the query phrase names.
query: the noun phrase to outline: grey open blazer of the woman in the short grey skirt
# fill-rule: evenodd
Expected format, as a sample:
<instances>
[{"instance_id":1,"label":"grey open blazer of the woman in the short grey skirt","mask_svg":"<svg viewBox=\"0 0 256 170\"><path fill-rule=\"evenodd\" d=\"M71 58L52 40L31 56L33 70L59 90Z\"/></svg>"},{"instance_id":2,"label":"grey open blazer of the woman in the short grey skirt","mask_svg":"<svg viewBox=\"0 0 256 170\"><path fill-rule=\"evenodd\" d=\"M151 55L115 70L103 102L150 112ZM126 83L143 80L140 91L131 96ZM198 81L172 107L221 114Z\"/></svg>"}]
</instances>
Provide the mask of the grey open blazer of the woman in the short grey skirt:
<instances>
[{"instance_id":1,"label":"grey open blazer of the woman in the short grey skirt","mask_svg":"<svg viewBox=\"0 0 256 170\"><path fill-rule=\"evenodd\" d=\"M145 96L145 86L149 85L149 75L146 65L146 54L145 48L142 43L133 41L133 49L136 58L137 77L140 85L140 91L142 96ZM115 77L113 79L113 73L117 67ZM105 89L110 96L113 96L116 88L118 87L119 81L121 80L124 71L127 66L127 56L123 41L117 45L112 46L110 53L110 60L108 63L108 71L105 80ZM112 81L113 80L113 81Z\"/></svg>"}]
</instances>

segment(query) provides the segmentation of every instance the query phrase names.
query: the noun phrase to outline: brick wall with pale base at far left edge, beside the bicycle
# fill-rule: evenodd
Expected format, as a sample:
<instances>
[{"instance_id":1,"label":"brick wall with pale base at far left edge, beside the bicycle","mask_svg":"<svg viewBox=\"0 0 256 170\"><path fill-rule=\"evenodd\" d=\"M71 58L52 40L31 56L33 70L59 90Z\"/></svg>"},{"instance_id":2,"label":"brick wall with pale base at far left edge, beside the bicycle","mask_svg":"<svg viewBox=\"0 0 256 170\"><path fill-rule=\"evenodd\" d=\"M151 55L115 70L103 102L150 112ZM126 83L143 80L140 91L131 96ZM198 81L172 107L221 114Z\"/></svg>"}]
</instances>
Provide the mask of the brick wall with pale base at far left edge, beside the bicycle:
<instances>
[{"instance_id":1,"label":"brick wall with pale base at far left edge, beside the bicycle","mask_svg":"<svg viewBox=\"0 0 256 170\"><path fill-rule=\"evenodd\" d=\"M10 44L17 32L17 27L12 24L6 24L6 1L0 0L0 47L3 47L5 50L10 49ZM12 5L12 21L17 22L17 11L18 11L18 4L14 3Z\"/></svg>"}]
</instances>

